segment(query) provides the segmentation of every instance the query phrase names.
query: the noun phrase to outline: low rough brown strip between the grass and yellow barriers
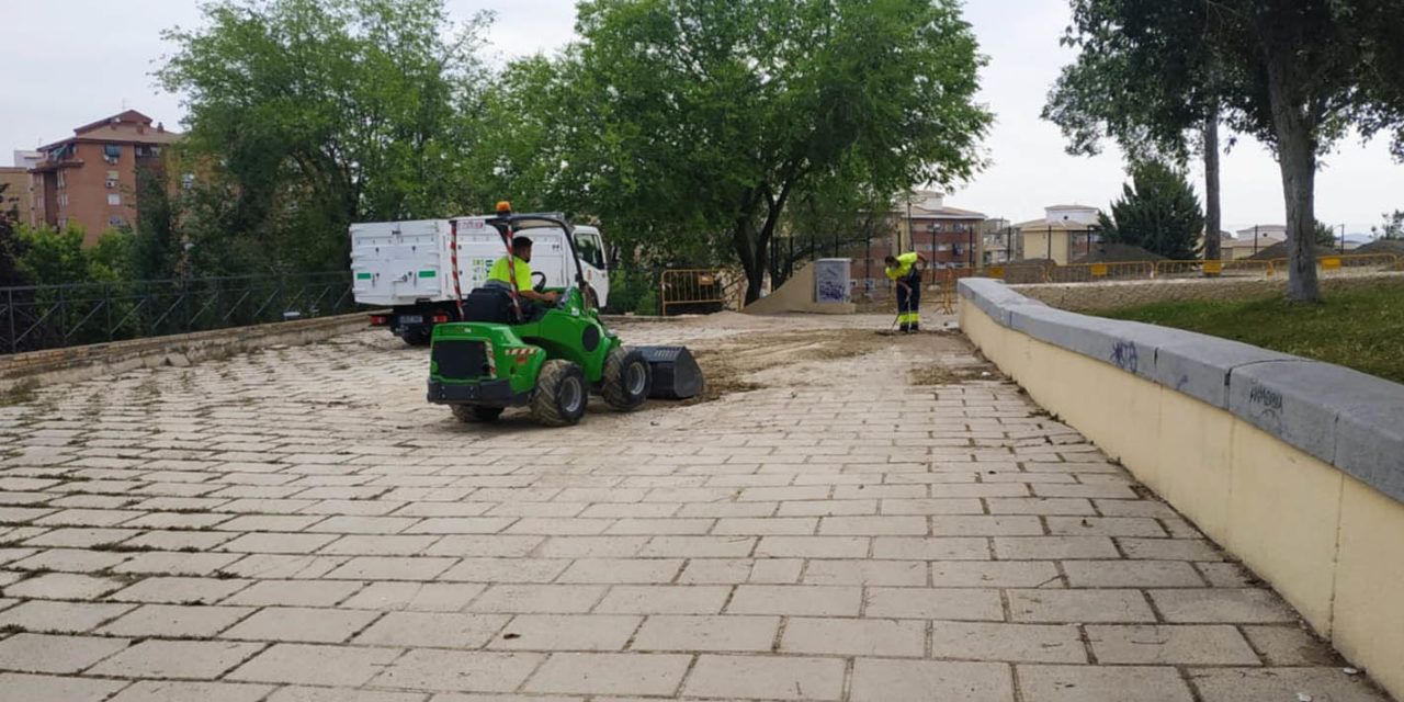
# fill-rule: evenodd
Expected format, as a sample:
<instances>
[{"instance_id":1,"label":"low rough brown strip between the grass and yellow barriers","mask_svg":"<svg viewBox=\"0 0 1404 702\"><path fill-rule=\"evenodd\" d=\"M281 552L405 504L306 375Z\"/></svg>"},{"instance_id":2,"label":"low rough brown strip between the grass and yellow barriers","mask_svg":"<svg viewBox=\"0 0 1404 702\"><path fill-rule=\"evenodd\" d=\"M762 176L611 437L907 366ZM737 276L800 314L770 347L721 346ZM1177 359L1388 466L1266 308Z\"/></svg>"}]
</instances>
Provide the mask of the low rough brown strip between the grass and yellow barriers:
<instances>
[{"instance_id":1,"label":"low rough brown strip between the grass and yellow barriers","mask_svg":"<svg viewBox=\"0 0 1404 702\"><path fill-rule=\"evenodd\" d=\"M1386 282L1404 284L1404 274L1373 272L1323 277L1327 295L1345 289L1369 288ZM1071 312L1105 312L1155 302L1233 300L1266 298L1282 293L1286 275L1275 278L1171 278L1116 282L1066 282L1014 285L1022 295Z\"/></svg>"}]
</instances>

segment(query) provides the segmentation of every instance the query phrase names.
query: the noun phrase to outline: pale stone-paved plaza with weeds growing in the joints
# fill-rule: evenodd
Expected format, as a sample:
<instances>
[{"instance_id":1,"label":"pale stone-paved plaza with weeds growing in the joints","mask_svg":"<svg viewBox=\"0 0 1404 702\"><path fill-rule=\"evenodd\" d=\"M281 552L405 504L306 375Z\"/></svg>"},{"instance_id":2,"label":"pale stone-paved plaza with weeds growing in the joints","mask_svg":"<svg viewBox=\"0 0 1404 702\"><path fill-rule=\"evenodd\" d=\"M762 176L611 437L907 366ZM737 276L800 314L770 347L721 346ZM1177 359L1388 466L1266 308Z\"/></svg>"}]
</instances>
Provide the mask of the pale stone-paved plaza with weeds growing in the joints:
<instances>
[{"instance_id":1,"label":"pale stone-paved plaza with weeds growing in the joints","mask_svg":"<svg viewBox=\"0 0 1404 702\"><path fill-rule=\"evenodd\" d=\"M38 390L0 407L0 702L1387 699L889 323L622 324L710 402L566 430L456 423L383 331Z\"/></svg>"}]
</instances>

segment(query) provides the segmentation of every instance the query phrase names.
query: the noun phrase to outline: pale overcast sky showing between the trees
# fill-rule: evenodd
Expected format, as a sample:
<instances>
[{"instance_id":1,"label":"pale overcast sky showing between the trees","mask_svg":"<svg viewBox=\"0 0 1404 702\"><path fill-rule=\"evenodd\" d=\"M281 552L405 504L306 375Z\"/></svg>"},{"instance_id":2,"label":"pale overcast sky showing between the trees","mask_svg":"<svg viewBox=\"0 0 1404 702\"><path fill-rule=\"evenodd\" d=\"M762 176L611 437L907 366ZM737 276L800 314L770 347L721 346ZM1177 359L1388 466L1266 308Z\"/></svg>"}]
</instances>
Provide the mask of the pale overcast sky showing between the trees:
<instances>
[{"instance_id":1,"label":"pale overcast sky showing between the trees","mask_svg":"<svg viewBox=\"0 0 1404 702\"><path fill-rule=\"evenodd\" d=\"M448 0L456 17L494 10L487 55L497 62L552 51L574 35L573 0ZM77 125L124 105L167 126L180 125L180 97L160 93L150 77L170 51L160 29L199 24L194 0L62 0L0 4L0 164L13 149L63 139ZM1066 0L977 0L966 15L990 56L980 100L997 125L984 143L990 168L953 188L946 202L1015 222L1042 216L1045 205L1105 208L1120 192L1123 163L1115 149L1087 159L1063 152L1057 128L1039 119L1045 95L1073 53L1059 46ZM1196 185L1203 174L1195 170ZM1283 220L1282 185L1268 152L1240 139L1223 159L1224 227ZM1367 230L1380 213L1404 208L1404 166L1387 143L1342 142L1317 178L1317 216Z\"/></svg>"}]
</instances>

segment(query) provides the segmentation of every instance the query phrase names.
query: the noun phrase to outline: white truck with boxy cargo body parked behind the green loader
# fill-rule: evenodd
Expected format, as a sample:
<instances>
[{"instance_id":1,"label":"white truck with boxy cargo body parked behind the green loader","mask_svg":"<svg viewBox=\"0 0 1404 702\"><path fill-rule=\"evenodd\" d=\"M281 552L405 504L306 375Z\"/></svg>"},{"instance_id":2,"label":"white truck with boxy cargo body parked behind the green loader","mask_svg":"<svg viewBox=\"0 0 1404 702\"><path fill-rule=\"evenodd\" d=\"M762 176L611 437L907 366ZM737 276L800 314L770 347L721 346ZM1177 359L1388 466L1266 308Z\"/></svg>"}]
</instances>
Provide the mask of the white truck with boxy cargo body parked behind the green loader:
<instances>
[{"instance_id":1,"label":"white truck with boxy cargo body parked behind the green loader","mask_svg":"<svg viewBox=\"0 0 1404 702\"><path fill-rule=\"evenodd\" d=\"M556 216L556 219L564 219ZM591 226L574 227L576 249L591 306L609 303L609 271L604 239ZM566 232L556 227L522 229L532 240L534 285L567 288L576 271ZM458 241L458 291L487 282L493 264L507 256L501 236L484 218L423 219L416 222L366 222L351 225L351 272L355 300L389 307L371 323L389 327L410 345L425 345L434 324L458 320L453 285L453 241ZM545 278L545 281L542 279Z\"/></svg>"}]
</instances>

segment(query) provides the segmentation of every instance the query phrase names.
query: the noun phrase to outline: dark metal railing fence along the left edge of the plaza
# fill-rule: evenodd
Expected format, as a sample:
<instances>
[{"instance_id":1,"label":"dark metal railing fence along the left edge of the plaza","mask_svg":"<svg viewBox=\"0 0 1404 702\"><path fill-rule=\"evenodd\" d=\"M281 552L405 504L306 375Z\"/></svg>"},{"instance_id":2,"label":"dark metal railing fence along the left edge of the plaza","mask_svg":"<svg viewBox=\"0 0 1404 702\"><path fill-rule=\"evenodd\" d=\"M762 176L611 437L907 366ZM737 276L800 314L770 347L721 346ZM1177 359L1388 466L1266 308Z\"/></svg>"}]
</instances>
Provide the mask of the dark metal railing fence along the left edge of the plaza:
<instances>
[{"instance_id":1,"label":"dark metal railing fence along the left edge of the plaza","mask_svg":"<svg viewBox=\"0 0 1404 702\"><path fill-rule=\"evenodd\" d=\"M0 288L0 355L354 310L350 271Z\"/></svg>"}]
</instances>

